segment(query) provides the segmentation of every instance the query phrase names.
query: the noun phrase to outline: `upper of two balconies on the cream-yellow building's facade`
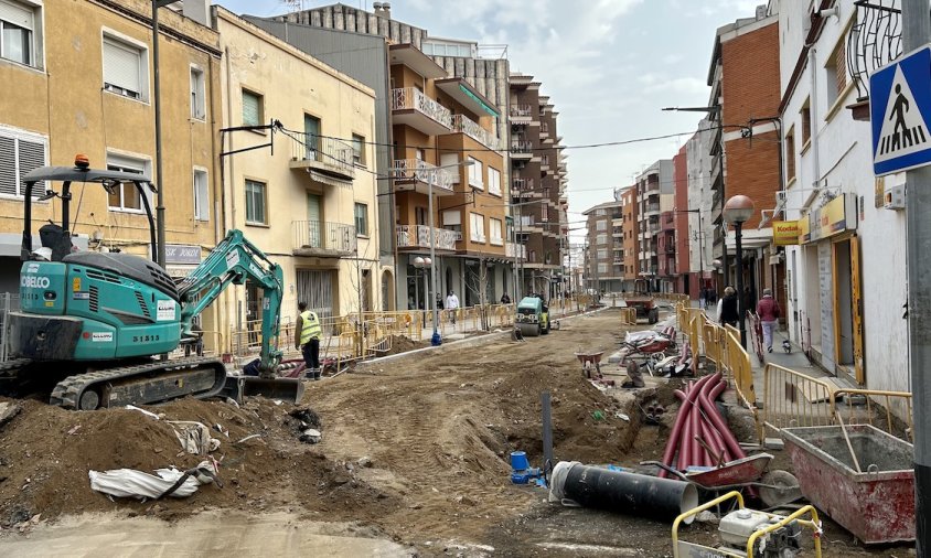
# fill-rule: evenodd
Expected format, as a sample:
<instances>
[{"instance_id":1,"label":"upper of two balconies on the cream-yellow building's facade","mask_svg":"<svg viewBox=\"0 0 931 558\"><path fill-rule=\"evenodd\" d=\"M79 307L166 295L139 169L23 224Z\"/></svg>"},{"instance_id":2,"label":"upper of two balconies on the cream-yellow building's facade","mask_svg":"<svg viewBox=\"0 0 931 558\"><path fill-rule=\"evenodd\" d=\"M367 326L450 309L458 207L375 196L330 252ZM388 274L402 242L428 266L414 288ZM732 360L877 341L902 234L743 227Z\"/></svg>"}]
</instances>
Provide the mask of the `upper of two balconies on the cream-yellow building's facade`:
<instances>
[{"instance_id":1,"label":"upper of two balconies on the cream-yellow building's facade","mask_svg":"<svg viewBox=\"0 0 931 558\"><path fill-rule=\"evenodd\" d=\"M311 180L334 186L352 185L355 178L352 146L333 138L299 133L291 138L290 168L306 171Z\"/></svg>"}]
</instances>

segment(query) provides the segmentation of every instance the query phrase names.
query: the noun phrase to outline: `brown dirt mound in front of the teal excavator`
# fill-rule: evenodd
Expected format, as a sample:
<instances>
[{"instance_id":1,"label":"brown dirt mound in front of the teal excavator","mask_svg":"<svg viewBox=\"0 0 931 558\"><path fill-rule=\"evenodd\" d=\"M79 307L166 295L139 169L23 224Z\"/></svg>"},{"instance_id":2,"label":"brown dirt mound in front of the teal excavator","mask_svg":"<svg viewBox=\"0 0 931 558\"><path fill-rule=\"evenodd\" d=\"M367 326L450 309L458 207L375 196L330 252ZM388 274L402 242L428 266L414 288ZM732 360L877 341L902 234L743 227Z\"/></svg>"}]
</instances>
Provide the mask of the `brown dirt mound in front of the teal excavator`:
<instances>
[{"instance_id":1,"label":"brown dirt mound in front of the teal excavator","mask_svg":"<svg viewBox=\"0 0 931 558\"><path fill-rule=\"evenodd\" d=\"M0 427L0 525L36 514L54 518L81 512L125 511L174 519L205 508L289 509L335 519L375 518L396 506L357 477L357 464L328 460L299 441L293 406L260 398L242 408L185 399L159 407L157 420L129 409L75 412L44 403L19 401L22 412ZM186 498L138 502L90 490L87 472L136 469L152 472L195 466L204 458L182 451L168 420L199 421L221 441L224 487L202 486ZM322 428L322 427L321 427ZM239 442L243 438L249 438ZM325 437L324 431L324 437Z\"/></svg>"}]
</instances>

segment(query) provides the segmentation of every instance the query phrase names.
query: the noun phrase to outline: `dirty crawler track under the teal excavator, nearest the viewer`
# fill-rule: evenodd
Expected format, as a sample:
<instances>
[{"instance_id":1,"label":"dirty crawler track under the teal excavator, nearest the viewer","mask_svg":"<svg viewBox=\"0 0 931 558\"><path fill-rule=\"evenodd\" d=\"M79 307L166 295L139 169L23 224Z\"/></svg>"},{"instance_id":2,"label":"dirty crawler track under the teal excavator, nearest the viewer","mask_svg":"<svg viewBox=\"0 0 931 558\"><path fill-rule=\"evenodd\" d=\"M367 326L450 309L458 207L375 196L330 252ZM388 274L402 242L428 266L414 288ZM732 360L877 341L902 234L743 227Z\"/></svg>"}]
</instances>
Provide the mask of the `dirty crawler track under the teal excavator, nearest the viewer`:
<instances>
[{"instance_id":1,"label":"dirty crawler track under the teal excavator, nearest the viewer","mask_svg":"<svg viewBox=\"0 0 931 558\"><path fill-rule=\"evenodd\" d=\"M226 367L216 358L178 358L98 369L61 380L50 403L66 409L153 405L217 395L226 382Z\"/></svg>"}]
</instances>

